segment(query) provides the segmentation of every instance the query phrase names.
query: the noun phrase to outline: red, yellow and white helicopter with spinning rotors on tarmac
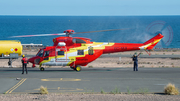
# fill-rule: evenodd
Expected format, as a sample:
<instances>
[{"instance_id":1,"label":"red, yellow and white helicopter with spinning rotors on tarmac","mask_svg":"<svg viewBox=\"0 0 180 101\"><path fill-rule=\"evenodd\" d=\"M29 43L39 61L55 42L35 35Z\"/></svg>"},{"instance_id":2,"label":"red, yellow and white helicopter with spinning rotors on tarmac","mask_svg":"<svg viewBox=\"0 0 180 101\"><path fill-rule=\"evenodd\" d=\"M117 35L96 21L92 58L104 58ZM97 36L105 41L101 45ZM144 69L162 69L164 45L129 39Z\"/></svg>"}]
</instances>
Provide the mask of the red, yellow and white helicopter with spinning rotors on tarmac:
<instances>
[{"instance_id":1,"label":"red, yellow and white helicopter with spinning rotors on tarmac","mask_svg":"<svg viewBox=\"0 0 180 101\"><path fill-rule=\"evenodd\" d=\"M153 38L144 43L110 43L110 42L91 42L89 38L71 37L72 34L92 33L103 31L114 31L124 29L100 30L89 32L75 32L74 30L65 30L64 33L23 35L14 37L32 37L32 36L50 36L66 35L53 39L54 45L41 48L36 56L28 59L33 66L39 65L40 70L44 71L43 66L70 66L75 71L81 71L81 66L96 60L102 54L134 51L134 50L152 50L153 47L164 37L158 33Z\"/></svg>"}]
</instances>

